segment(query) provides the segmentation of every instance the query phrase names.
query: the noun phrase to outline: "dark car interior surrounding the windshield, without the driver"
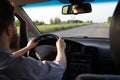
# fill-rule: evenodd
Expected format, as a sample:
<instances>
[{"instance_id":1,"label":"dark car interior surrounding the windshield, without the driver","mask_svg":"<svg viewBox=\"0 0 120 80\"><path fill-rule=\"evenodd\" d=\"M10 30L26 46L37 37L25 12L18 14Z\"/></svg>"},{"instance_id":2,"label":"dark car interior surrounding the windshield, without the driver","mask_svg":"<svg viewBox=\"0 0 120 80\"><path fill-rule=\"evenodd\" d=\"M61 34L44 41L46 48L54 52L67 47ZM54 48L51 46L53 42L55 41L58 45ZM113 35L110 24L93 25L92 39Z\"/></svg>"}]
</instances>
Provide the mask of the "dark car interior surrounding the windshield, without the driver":
<instances>
[{"instance_id":1,"label":"dark car interior surrounding the windshield, without the driver","mask_svg":"<svg viewBox=\"0 0 120 80\"><path fill-rule=\"evenodd\" d=\"M49 0L11 0L15 4L15 17L20 21L20 48L26 46L27 42L31 38L31 35L39 41L38 45L26 53L24 56L31 56L37 60L54 60L56 57L56 40L59 38L56 34L42 34L32 22L31 18L22 8L23 5L47 2ZM82 1L82 2L81 2ZM65 7L69 7L66 14L74 14L70 11L71 5L81 3L83 5L85 0L59 0ZM86 0L87 1L87 0ZM90 8L90 2L94 0L88 0L87 8L83 13L92 12ZM69 5L67 4L69 3ZM67 6L66 6L67 4ZM89 5L89 6L88 6ZM85 4L86 6L86 4ZM61 9L61 10L62 10ZM62 14L61 13L61 14ZM79 14L79 13L78 13ZM75 14L76 15L76 14ZM81 13L80 13L81 15ZM29 35L29 33L31 35ZM67 69L63 74L62 80L75 80L77 76L82 74L94 75L109 75L110 77L119 77L120 73L120 1L117 1L117 6L113 12L109 38L94 38L94 37L63 37L66 42L66 57L67 57ZM115 76L116 75L116 76ZM117 80L119 80L118 78ZM3 80L3 79L0 79ZM7 79L4 79L7 80ZM9 80L9 79L8 79ZM77 80L81 80L77 78ZM104 79L90 79L85 80L104 80ZM109 80L109 79L108 79Z\"/></svg>"}]
</instances>

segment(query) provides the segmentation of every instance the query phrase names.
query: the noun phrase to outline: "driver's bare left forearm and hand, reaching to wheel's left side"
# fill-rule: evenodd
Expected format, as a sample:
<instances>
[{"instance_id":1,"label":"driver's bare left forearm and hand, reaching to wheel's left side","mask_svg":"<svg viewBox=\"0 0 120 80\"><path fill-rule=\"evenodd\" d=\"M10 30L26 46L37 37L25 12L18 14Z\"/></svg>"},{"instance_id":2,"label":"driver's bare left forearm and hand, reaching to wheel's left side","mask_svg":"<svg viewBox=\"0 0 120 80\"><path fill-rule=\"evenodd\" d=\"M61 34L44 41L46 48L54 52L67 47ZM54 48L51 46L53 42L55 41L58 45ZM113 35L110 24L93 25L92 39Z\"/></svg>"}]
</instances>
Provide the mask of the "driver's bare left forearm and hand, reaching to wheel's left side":
<instances>
[{"instance_id":1,"label":"driver's bare left forearm and hand, reaching to wheel's left side","mask_svg":"<svg viewBox=\"0 0 120 80\"><path fill-rule=\"evenodd\" d=\"M27 44L26 47L18 50L18 51L15 51L13 52L13 56L14 57L18 57L18 56L22 56L24 55L27 51L29 51L30 49L32 49L33 47L35 47L37 45L37 42L34 42L34 39L30 40Z\"/></svg>"}]
</instances>

